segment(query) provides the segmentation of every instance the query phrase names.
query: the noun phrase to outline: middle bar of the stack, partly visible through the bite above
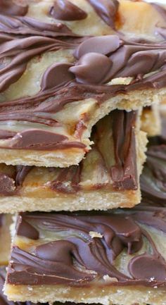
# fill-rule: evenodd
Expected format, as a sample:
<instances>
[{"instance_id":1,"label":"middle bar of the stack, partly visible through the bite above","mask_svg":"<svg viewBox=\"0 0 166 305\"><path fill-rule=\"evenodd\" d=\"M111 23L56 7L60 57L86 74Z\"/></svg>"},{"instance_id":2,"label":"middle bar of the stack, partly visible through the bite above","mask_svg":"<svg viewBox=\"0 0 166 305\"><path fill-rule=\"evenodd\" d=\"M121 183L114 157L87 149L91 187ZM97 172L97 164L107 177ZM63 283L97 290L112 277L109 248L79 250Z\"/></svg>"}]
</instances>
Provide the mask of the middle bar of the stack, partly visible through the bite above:
<instances>
[{"instance_id":1,"label":"middle bar of the stack, partly visible through the bite above","mask_svg":"<svg viewBox=\"0 0 166 305\"><path fill-rule=\"evenodd\" d=\"M139 125L136 111L111 112L94 126L94 145L79 166L1 164L0 211L106 210L139 204L147 143Z\"/></svg>"}]
</instances>

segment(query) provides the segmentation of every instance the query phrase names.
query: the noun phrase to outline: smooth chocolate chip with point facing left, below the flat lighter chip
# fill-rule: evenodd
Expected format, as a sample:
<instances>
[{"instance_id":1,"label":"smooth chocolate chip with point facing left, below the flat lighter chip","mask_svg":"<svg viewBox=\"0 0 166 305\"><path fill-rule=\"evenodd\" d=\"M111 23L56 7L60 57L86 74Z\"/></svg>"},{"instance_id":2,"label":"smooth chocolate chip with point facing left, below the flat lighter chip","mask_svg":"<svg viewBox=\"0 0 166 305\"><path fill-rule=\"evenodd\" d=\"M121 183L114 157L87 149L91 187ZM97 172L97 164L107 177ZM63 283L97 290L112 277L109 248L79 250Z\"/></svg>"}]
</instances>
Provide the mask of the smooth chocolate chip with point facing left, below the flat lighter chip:
<instances>
[{"instance_id":1,"label":"smooth chocolate chip with point facing left, below the flat lighter chip","mask_svg":"<svg viewBox=\"0 0 166 305\"><path fill-rule=\"evenodd\" d=\"M69 70L75 74L77 82L83 84L101 84L104 82L112 63L110 59L98 53L82 56Z\"/></svg>"}]
</instances>

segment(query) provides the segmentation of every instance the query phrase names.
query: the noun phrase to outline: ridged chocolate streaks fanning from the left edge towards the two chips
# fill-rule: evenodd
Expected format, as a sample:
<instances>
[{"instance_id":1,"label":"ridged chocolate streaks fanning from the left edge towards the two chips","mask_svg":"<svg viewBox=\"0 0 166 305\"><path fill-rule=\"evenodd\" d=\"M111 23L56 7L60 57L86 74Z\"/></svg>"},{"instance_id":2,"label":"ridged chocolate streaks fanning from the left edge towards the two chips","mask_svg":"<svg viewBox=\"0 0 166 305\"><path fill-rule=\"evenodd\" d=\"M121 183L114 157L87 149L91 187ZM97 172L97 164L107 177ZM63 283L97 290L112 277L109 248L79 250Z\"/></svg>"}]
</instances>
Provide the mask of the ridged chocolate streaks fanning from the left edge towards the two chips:
<instances>
[{"instance_id":1,"label":"ridged chocolate streaks fanning from the left edge towards the two chips","mask_svg":"<svg viewBox=\"0 0 166 305\"><path fill-rule=\"evenodd\" d=\"M42 23L29 17L0 15L0 58L11 58L0 70L0 92L19 80L34 56L56 51L60 47L73 47L63 39L56 39L58 36L68 37L73 34L65 25Z\"/></svg>"}]
</instances>

